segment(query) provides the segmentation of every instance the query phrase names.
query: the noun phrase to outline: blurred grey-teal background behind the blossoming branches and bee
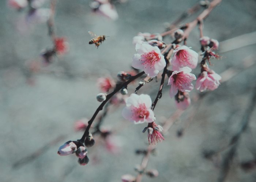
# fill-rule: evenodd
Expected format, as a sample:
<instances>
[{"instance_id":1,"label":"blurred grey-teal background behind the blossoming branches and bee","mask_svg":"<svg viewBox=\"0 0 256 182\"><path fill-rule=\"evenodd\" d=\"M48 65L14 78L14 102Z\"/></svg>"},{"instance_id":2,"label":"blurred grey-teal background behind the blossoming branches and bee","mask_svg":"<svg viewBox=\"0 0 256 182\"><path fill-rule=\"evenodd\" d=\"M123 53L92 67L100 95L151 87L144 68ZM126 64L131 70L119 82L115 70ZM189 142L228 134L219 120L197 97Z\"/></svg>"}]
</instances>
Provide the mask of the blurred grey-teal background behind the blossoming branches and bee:
<instances>
[{"instance_id":1,"label":"blurred grey-teal background behind the blossoming branches and bee","mask_svg":"<svg viewBox=\"0 0 256 182\"><path fill-rule=\"evenodd\" d=\"M147 149L146 124L135 125L121 116L124 105L111 108L102 127L114 128L117 153L106 150L101 139L88 149L90 162L77 163L75 155L57 155L60 145L81 138L75 121L91 118L99 106L99 77L131 70L138 32L161 33L197 0L128 0L114 3L118 19L92 12L91 1L59 0L55 26L66 37L69 52L52 64L29 71L40 53L52 47L46 23L27 25L27 9L16 11L0 1L0 179L3 182L117 182L124 174L136 176L142 161L135 150ZM49 8L46 1L42 8ZM182 23L196 18L203 8ZM204 21L204 35L220 42L212 70L223 83L207 94L191 92L192 104L158 143L147 169L159 176L142 181L255 182L256 181L256 1L223 0ZM108 35L99 48L89 45L88 31ZM250 34L251 33L251 34ZM242 36L241 36L242 35ZM233 39L234 38L234 39ZM166 37L166 43L173 38ZM200 54L199 31L187 41ZM36 67L36 66L35 66ZM36 67L37 68L37 67ZM195 75L200 69L193 70ZM128 87L131 94L138 81ZM166 82L167 83L167 82ZM155 98L159 82L152 81L138 94ZM169 86L154 112L158 124L176 112ZM250 110L251 109L251 110ZM245 130L242 130L244 124ZM231 142L232 145L229 145Z\"/></svg>"}]
</instances>

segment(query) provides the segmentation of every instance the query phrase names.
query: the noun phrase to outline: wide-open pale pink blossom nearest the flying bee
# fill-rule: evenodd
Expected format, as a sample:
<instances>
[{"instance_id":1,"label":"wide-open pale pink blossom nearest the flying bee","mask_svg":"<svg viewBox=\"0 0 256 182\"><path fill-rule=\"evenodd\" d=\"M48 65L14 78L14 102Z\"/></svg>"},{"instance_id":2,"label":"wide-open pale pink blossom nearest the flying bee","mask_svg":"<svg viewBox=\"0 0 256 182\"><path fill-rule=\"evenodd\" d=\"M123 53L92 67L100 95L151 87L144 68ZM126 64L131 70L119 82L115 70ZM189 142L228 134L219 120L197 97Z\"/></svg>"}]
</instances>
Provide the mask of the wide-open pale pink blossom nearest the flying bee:
<instances>
[{"instance_id":1,"label":"wide-open pale pink blossom nearest the flying bee","mask_svg":"<svg viewBox=\"0 0 256 182\"><path fill-rule=\"evenodd\" d=\"M135 49L138 54L133 56L132 67L144 70L150 77L157 76L159 71L163 70L166 62L158 47L150 46L145 42L141 45L136 44Z\"/></svg>"}]
</instances>

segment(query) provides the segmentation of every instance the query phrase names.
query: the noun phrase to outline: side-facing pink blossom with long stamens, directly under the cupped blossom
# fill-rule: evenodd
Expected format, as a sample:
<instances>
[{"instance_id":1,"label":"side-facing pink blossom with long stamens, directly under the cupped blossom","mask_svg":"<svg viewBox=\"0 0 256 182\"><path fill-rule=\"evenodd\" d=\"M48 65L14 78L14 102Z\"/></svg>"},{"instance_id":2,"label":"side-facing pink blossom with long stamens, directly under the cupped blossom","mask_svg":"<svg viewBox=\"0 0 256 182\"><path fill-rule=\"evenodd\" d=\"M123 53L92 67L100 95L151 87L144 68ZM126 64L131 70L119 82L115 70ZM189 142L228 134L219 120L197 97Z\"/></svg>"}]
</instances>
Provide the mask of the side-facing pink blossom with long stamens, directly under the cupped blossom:
<instances>
[{"instance_id":1,"label":"side-facing pink blossom with long stamens, directly under the cupped blossom","mask_svg":"<svg viewBox=\"0 0 256 182\"><path fill-rule=\"evenodd\" d=\"M181 92L190 92L193 90L194 86L191 82L196 80L196 76L190 73L191 71L189 67L183 67L178 71L173 71L168 82L168 85L171 85L169 93L171 98L178 93L178 90Z\"/></svg>"}]
</instances>

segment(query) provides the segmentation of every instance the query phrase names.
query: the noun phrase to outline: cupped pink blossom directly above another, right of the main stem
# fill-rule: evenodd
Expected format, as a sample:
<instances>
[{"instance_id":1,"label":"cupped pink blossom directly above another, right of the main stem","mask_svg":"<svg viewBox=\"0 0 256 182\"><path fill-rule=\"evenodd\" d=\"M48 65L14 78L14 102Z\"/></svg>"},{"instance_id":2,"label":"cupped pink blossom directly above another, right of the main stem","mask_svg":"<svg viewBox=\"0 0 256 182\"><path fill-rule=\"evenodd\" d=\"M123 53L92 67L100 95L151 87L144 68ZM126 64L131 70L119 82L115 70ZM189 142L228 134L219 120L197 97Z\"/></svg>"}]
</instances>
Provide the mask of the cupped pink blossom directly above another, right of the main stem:
<instances>
[{"instance_id":1,"label":"cupped pink blossom directly above another, right of the main stem","mask_svg":"<svg viewBox=\"0 0 256 182\"><path fill-rule=\"evenodd\" d=\"M198 54L187 46L180 46L173 51L174 55L171 60L173 70L179 70L182 67L196 68L198 63Z\"/></svg>"}]
</instances>

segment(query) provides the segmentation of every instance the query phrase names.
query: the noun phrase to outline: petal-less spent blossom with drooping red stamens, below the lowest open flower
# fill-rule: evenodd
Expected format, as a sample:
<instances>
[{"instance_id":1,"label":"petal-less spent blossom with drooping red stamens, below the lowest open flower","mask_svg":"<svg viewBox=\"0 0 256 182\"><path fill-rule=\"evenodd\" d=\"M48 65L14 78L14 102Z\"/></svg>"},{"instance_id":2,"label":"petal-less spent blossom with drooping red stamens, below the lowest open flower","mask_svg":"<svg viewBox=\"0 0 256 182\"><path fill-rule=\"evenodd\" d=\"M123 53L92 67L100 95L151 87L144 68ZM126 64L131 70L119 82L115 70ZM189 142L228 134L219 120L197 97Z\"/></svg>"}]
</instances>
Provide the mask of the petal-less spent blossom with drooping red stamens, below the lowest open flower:
<instances>
[{"instance_id":1,"label":"petal-less spent blossom with drooping red stamens, below the lowest open flower","mask_svg":"<svg viewBox=\"0 0 256 182\"><path fill-rule=\"evenodd\" d=\"M148 123L148 126L144 128L143 132L147 130L148 144L155 142L162 142L165 140L161 132L163 131L162 126L157 125L155 122Z\"/></svg>"}]
</instances>

